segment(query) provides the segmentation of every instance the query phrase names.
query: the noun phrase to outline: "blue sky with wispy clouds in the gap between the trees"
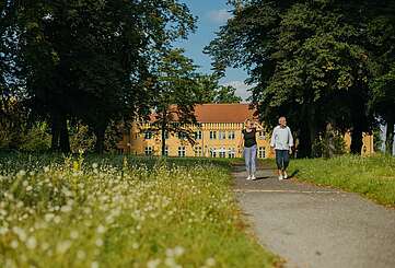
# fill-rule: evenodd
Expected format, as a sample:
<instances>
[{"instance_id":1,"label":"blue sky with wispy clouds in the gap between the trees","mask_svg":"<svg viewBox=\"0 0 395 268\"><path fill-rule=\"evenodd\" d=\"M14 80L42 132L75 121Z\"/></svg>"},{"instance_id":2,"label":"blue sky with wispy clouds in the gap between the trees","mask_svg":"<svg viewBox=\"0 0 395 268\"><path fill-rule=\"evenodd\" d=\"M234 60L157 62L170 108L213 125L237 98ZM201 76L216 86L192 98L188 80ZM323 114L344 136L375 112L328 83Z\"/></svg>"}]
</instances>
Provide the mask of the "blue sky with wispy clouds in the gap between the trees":
<instances>
[{"instance_id":1,"label":"blue sky with wispy clouds in the gap between the trees","mask_svg":"<svg viewBox=\"0 0 395 268\"><path fill-rule=\"evenodd\" d=\"M185 48L186 56L200 66L200 72L211 73L211 59L202 50L216 37L216 32L220 26L225 24L231 16L228 12L230 7L226 5L226 0L181 0L181 2L189 7L193 14L198 16L198 22L196 32L189 34L187 40L177 42L176 46ZM244 70L229 69L221 84L233 85L237 89L237 95L245 98L248 96L247 86L244 83L246 78Z\"/></svg>"}]
</instances>

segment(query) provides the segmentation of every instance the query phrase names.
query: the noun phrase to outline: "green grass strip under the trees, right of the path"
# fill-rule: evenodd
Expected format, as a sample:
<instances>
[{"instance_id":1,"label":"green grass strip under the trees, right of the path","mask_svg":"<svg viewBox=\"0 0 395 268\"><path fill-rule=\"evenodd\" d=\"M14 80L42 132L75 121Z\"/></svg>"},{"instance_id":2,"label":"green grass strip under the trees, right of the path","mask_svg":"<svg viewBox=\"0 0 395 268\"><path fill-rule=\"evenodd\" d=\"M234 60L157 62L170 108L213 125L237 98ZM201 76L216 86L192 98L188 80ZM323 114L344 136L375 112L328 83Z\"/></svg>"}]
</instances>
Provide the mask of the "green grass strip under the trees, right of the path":
<instances>
[{"instance_id":1,"label":"green grass strip under the trees, right of the path","mask_svg":"<svg viewBox=\"0 0 395 268\"><path fill-rule=\"evenodd\" d=\"M359 193L395 207L395 158L345 155L330 160L293 160L290 173L297 171L299 180Z\"/></svg>"}]
</instances>

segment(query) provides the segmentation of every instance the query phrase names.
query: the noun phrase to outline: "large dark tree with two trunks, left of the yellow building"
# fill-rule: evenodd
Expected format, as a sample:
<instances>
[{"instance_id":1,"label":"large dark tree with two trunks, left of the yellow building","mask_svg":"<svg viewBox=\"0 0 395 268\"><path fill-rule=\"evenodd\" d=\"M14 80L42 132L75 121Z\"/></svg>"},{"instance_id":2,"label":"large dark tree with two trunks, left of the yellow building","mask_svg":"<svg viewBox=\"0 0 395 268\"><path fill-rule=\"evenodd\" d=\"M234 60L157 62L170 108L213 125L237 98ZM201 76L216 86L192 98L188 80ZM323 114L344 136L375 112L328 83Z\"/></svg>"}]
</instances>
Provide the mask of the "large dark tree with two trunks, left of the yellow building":
<instances>
[{"instance_id":1,"label":"large dark tree with two trunks, left of the yellow building","mask_svg":"<svg viewBox=\"0 0 395 268\"><path fill-rule=\"evenodd\" d=\"M158 51L195 25L177 0L28 1L20 12L28 93L50 115L53 147L66 152L69 118L93 129L102 152L112 120L147 112Z\"/></svg>"}]
</instances>

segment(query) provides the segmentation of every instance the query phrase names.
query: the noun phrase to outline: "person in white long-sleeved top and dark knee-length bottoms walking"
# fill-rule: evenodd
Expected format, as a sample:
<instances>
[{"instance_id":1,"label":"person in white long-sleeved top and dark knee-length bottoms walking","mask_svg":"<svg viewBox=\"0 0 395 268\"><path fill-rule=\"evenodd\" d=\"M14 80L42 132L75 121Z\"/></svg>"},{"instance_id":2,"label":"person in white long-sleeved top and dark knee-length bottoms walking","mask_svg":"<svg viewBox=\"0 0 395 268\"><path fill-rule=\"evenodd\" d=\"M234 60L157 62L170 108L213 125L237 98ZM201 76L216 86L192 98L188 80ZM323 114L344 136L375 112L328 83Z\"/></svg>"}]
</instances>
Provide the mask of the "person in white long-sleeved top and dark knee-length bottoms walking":
<instances>
[{"instance_id":1,"label":"person in white long-sleeved top and dark knee-length bottoms walking","mask_svg":"<svg viewBox=\"0 0 395 268\"><path fill-rule=\"evenodd\" d=\"M288 178L287 167L289 155L292 153L293 137L291 129L287 127L286 117L278 119L279 126L272 130L270 147L276 151L276 163L278 168L278 179Z\"/></svg>"}]
</instances>

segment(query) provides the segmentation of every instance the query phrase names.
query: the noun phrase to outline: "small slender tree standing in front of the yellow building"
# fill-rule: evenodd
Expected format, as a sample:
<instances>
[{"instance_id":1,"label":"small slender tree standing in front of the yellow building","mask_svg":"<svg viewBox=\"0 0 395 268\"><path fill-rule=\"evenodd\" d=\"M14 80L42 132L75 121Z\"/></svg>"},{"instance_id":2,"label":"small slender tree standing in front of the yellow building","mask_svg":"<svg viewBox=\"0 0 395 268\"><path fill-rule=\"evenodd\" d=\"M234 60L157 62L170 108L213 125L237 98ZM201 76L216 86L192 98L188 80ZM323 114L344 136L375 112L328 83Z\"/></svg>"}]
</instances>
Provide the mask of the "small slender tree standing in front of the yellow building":
<instances>
[{"instance_id":1,"label":"small slender tree standing in front of the yellow building","mask_svg":"<svg viewBox=\"0 0 395 268\"><path fill-rule=\"evenodd\" d=\"M194 108L201 92L196 82L196 66L183 54L183 49L165 51L158 67L154 118L150 130L161 133L162 155L165 155L170 135L178 135L194 143L190 126L196 125Z\"/></svg>"}]
</instances>

